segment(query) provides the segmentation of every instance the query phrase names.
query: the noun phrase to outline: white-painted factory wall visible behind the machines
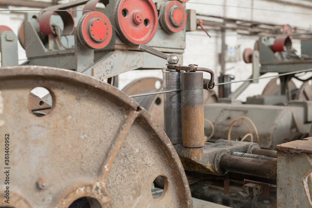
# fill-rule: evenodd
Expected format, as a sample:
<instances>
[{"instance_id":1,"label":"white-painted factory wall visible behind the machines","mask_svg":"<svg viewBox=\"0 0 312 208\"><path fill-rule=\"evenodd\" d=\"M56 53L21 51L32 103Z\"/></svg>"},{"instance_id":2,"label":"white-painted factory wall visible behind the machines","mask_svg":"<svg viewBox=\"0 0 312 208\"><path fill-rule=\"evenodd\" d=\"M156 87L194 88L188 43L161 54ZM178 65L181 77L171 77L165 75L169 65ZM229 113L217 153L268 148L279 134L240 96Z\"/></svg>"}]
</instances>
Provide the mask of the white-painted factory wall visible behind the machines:
<instances>
[{"instance_id":1,"label":"white-painted factory wall visible behind the machines","mask_svg":"<svg viewBox=\"0 0 312 208\"><path fill-rule=\"evenodd\" d=\"M49 1L49 0L46 0ZM68 1L68 0L64 0ZM273 24L290 24L301 28L311 28L311 10L306 7L293 6L291 3L298 3L307 6L312 6L312 2L308 0L282 0L282 3L276 3L268 0L189 0L186 3L187 9L195 9L197 13L215 15L221 17L238 18L250 21L268 22ZM203 4L197 4L203 3ZM226 6L216 6L207 4L219 4ZM274 11L262 11L257 9L246 9L238 7L253 7L258 9L269 9ZM10 7L11 9L20 9L20 7ZM6 8L0 8L6 9ZM23 9L23 8L22 8ZM291 11L298 14L283 13ZM0 24L6 25L17 34L18 26L23 19L23 14L8 12L0 12ZM221 66L219 64L219 55L221 53L221 33L209 31L212 36L209 38L203 31L188 32L186 36L187 48L183 56L183 64L197 64L201 67L210 68L215 71L216 77L220 74ZM253 48L256 37L246 37L238 35L235 31L227 31L226 44L228 46L241 45L241 52L245 48ZM300 44L300 41L294 43L295 47ZM297 49L299 49L297 47ZM26 58L24 50L19 46L20 63ZM299 49L300 51L300 49ZM251 65L245 64L243 60L236 63L227 63L226 69L234 67L232 70L227 70L227 74L235 75L235 80L246 79L251 75ZM131 71L119 76L119 88L122 89L125 85L134 79L141 77L159 77L162 78L161 70L146 70L146 71ZM205 75L209 77L209 75ZM216 80L217 81L217 80ZM261 94L265 85L269 80L260 80L259 84L252 84L247 88L248 95ZM240 83L232 84L232 89L235 90ZM217 88L216 88L217 90Z\"/></svg>"}]
</instances>

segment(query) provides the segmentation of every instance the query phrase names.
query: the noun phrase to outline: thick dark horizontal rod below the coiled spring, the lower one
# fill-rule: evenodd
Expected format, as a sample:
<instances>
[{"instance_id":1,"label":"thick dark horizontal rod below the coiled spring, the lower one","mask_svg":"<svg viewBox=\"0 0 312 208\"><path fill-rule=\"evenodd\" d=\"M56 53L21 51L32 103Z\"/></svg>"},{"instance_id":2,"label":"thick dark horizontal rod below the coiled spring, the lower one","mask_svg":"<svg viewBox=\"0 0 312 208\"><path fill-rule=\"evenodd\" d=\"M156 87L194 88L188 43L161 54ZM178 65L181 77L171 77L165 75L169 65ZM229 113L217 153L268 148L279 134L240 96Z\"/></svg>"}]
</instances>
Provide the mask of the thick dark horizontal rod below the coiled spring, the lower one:
<instances>
[{"instance_id":1,"label":"thick dark horizontal rod below the coiled spring, the lower one","mask_svg":"<svg viewBox=\"0 0 312 208\"><path fill-rule=\"evenodd\" d=\"M276 179L276 162L232 155L223 155L220 167L225 171Z\"/></svg>"}]
</instances>

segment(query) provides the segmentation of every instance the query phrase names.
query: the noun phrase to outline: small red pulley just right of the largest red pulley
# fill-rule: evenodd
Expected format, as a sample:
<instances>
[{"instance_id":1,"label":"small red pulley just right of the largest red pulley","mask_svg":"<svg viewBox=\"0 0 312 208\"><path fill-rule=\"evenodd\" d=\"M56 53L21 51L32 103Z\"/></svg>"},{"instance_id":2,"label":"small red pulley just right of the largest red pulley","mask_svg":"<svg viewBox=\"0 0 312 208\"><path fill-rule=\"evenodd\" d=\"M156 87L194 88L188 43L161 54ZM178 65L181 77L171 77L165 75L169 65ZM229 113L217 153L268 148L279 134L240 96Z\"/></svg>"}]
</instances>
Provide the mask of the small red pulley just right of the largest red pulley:
<instances>
[{"instance_id":1,"label":"small red pulley just right of the largest red pulley","mask_svg":"<svg viewBox=\"0 0 312 208\"><path fill-rule=\"evenodd\" d=\"M180 32L186 25L186 11L178 1L169 1L161 7L159 23L168 33Z\"/></svg>"}]
</instances>

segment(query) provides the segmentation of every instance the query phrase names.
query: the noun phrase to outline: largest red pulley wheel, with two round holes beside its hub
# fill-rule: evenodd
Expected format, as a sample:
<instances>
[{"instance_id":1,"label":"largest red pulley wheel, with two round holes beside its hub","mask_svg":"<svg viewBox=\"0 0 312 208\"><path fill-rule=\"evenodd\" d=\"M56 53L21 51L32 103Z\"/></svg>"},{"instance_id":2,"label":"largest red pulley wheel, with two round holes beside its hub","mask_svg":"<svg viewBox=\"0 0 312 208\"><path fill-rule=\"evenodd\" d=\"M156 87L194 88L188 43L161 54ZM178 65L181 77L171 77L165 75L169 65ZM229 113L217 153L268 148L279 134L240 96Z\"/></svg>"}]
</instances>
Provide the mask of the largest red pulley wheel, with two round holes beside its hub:
<instances>
[{"instance_id":1,"label":"largest red pulley wheel, with two round holes beside its hub","mask_svg":"<svg viewBox=\"0 0 312 208\"><path fill-rule=\"evenodd\" d=\"M117 34L124 42L139 45L152 40L158 27L152 0L118 0L114 11Z\"/></svg>"}]
</instances>

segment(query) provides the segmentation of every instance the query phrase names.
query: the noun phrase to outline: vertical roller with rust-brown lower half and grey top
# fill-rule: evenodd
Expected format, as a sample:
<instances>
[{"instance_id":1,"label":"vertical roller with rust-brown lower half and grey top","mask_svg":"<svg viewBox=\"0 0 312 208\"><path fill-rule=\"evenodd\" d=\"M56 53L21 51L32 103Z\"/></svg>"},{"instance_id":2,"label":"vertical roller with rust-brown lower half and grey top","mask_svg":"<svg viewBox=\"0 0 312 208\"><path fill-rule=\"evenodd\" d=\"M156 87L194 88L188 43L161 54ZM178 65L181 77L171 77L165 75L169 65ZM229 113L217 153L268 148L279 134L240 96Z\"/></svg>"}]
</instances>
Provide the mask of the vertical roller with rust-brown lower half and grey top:
<instances>
[{"instance_id":1,"label":"vertical roller with rust-brown lower half and grey top","mask_svg":"<svg viewBox=\"0 0 312 208\"><path fill-rule=\"evenodd\" d=\"M182 73L183 147L198 148L204 140L204 95L202 72Z\"/></svg>"}]
</instances>

